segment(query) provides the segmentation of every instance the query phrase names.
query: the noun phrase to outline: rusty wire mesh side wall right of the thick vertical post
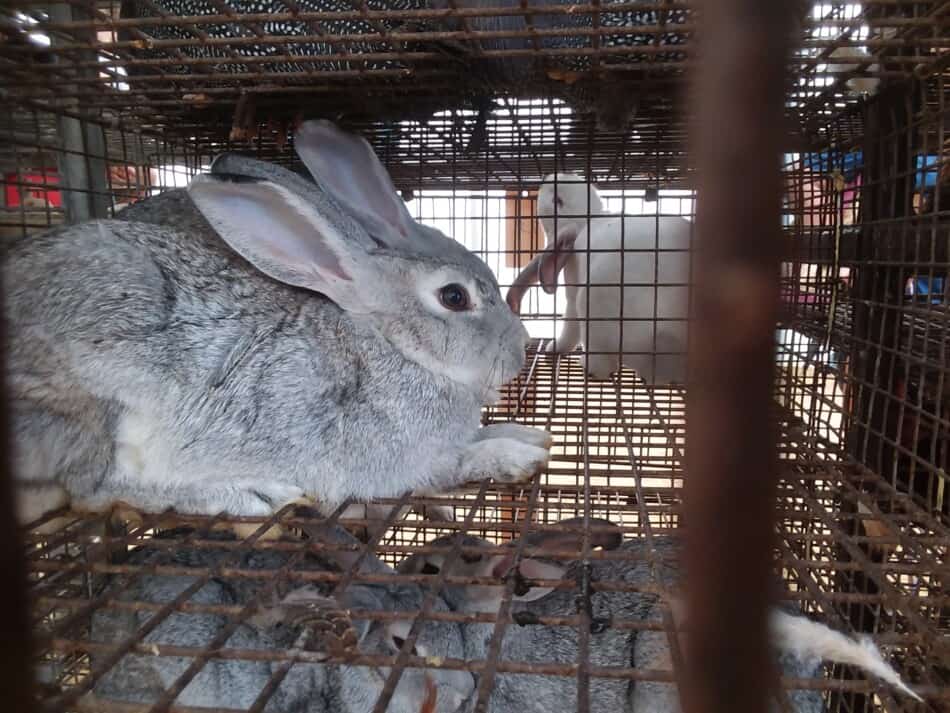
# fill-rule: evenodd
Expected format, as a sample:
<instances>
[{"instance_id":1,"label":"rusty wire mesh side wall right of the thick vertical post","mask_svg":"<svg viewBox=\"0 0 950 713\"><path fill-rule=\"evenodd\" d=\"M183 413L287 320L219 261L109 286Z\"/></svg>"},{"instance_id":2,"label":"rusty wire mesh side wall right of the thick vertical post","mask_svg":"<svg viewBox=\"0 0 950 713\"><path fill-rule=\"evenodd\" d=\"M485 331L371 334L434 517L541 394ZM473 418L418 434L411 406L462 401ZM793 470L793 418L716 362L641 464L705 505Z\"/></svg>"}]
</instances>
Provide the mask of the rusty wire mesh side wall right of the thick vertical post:
<instances>
[{"instance_id":1,"label":"rusty wire mesh side wall right of the thick vertical post","mask_svg":"<svg viewBox=\"0 0 950 713\"><path fill-rule=\"evenodd\" d=\"M801 255L787 281L789 396L946 522L946 84L886 101L864 117L869 140L789 167L792 207L806 209L787 229Z\"/></svg>"}]
</instances>

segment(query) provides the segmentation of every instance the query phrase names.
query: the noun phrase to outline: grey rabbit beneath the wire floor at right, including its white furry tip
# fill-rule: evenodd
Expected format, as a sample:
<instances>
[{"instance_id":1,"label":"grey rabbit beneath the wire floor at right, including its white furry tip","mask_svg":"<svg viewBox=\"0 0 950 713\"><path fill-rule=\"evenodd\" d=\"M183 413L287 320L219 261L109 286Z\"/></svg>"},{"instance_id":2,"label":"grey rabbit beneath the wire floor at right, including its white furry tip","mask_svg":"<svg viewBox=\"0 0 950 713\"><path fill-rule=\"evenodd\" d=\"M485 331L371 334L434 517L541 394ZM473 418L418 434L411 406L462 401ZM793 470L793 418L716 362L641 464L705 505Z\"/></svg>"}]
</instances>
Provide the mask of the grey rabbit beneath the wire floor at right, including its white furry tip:
<instances>
[{"instance_id":1,"label":"grey rabbit beneath the wire floor at right, including its white furry tip","mask_svg":"<svg viewBox=\"0 0 950 713\"><path fill-rule=\"evenodd\" d=\"M561 525L577 525L579 519L562 521ZM679 579L679 566L675 559L678 544L672 537L654 537L653 547L658 555L656 576L651 572L648 559L649 548L644 540L627 540L620 543L619 529L610 533L609 523L591 520L591 546L605 549L621 547L628 554L637 554L633 559L591 561L591 581L595 591L591 595L592 620L605 624L592 630L590 639L590 662L594 666L629 667L639 669L669 670L669 643L665 631L645 629L620 630L610 626L611 621L660 621L659 599L651 592L651 584L658 583L665 589L675 587ZM605 527L606 525L606 527ZM597 526L597 530L594 529ZM456 536L438 538L429 543L431 549L446 548ZM576 549L580 535L571 532L541 533L532 537L532 547L551 552ZM510 543L512 550L517 543ZM462 545L467 548L493 547L477 537L464 536ZM455 560L449 576L489 577L501 579L512 574L514 552L510 554L486 554L479 556L470 550L467 556ZM442 552L414 554L397 568L404 574L438 574L444 566ZM508 625L502 643L500 660L530 663L577 662L578 643L576 627L550 627L531 624L538 616L557 617L577 613L577 592L570 589L555 589L549 586L532 585L531 580L578 581L579 563L544 559L542 556L526 556L521 559L516 576L518 584L512 597L514 621ZM597 590L596 582L626 583L637 591ZM504 593L504 585L453 585L448 583L443 596L449 606L462 612L497 612ZM679 601L672 603L678 613L678 625L682 624L683 607ZM520 625L519 622L526 623ZM466 655L471 660L485 660L494 632L494 624L466 624ZM920 700L908 689L897 672L882 658L871 643L864 639L855 641L833 631L823 624L803 616L791 614L783 608L773 609L770 615L770 637L778 655L782 674L795 678L814 678L819 675L822 660L847 663L873 673L902 693ZM686 634L679 634L681 645L688 643ZM548 713L550 710L571 709L576 703L576 678L545 676L544 684L538 677L524 674L498 674L492 693L490 711L493 713ZM789 701L798 713L819 713L824 710L821 693L818 691L793 691ZM619 711L630 713L670 713L678 710L675 685L664 682L637 681L629 683L618 679L592 677L590 683L590 708L592 711Z\"/></svg>"}]
</instances>

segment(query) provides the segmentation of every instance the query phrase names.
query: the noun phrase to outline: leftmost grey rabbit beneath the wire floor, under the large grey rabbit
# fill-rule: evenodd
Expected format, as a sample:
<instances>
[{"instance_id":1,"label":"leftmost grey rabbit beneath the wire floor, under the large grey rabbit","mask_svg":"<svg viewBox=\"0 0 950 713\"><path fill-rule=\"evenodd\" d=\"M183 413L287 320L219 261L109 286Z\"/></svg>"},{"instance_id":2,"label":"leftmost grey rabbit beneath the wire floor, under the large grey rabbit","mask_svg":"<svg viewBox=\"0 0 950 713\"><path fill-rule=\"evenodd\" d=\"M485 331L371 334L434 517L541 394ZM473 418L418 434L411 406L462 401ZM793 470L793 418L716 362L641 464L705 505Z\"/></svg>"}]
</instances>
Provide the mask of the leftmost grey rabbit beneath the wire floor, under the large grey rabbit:
<instances>
[{"instance_id":1,"label":"leftmost grey rabbit beneath the wire floor, under the large grey rabbit","mask_svg":"<svg viewBox=\"0 0 950 713\"><path fill-rule=\"evenodd\" d=\"M177 537L180 533L166 536ZM219 536L220 539L231 539ZM340 529L332 533L337 542L352 543ZM411 618L394 620L358 620L350 609L375 612L414 612L423 602L423 590L416 585L350 584L345 591L331 598L321 591L330 585L302 584L290 580L286 591L267 599L262 591L273 580L272 575L255 578L253 570L276 571L286 566L291 555L276 550L243 551L214 549L208 543L202 548L174 550L170 561L163 559L167 551L152 547L133 551L126 565L146 569L137 581L122 590L118 600L125 603L147 602L167 604L192 586L202 570L220 566L252 571L248 576L211 577L187 601L191 605L229 606L241 608L258 596L265 606L240 624L223 643L222 648L287 652L302 650L312 654L365 655L395 657L402 648L411 626ZM194 575L165 575L147 572L150 565L195 568ZM329 565L332 567L332 565ZM294 572L324 571L322 559L308 555L293 566ZM363 571L391 572L375 557L368 557ZM445 611L441 600L435 611ZM97 643L122 645L146 626L155 615L152 608L100 607L92 618L91 639ZM163 619L144 637L143 644L152 654L128 653L109 668L96 684L94 695L99 699L126 703L154 703L171 687L194 660L188 656L158 655L161 646L189 647L195 653L207 649L230 623L218 612L176 610ZM419 630L413 655L461 658L463 643L459 625L454 622L425 620ZM93 656L93 666L108 656ZM267 685L280 660L249 660L212 658L177 697L181 706L248 709ZM320 664L298 661L287 673L265 711L286 713L366 713L376 704L389 674L378 665ZM474 679L464 671L420 669L407 667L402 672L387 711L390 713L421 713L438 711L453 713L470 696ZM435 696L434 705L431 697ZM428 707L424 707L428 706Z\"/></svg>"}]
</instances>

